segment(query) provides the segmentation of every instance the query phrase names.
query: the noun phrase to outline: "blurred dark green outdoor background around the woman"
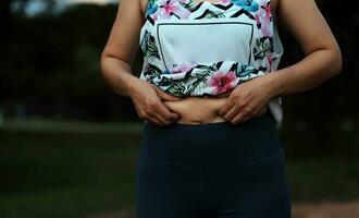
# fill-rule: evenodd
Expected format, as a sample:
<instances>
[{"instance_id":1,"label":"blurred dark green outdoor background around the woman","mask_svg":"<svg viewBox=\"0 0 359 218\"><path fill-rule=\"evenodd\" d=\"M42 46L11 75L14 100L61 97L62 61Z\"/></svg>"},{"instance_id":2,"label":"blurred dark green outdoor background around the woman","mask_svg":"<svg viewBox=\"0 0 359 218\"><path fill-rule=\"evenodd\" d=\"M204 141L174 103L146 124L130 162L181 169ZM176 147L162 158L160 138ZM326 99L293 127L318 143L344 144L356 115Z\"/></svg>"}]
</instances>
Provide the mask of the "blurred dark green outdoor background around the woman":
<instances>
[{"instance_id":1,"label":"blurred dark green outdoor background around the woman","mask_svg":"<svg viewBox=\"0 0 359 218\"><path fill-rule=\"evenodd\" d=\"M359 199L358 2L317 1L343 72L283 96L281 137L295 202ZM131 208L143 121L101 78L117 2L0 1L0 217L72 218ZM304 58L278 26L280 68ZM139 75L143 53L133 71Z\"/></svg>"}]
</instances>

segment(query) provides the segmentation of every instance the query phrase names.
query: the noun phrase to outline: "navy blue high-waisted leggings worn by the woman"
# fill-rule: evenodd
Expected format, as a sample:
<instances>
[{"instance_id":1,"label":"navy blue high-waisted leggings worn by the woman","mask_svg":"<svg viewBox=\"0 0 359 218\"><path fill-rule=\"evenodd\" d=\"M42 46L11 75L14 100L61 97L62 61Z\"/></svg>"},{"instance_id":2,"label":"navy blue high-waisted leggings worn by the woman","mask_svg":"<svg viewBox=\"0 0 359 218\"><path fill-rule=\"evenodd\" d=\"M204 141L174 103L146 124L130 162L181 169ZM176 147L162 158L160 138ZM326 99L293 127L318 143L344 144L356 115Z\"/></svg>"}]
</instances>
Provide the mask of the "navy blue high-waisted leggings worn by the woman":
<instances>
[{"instance_id":1,"label":"navy blue high-waisted leggings worn by the woman","mask_svg":"<svg viewBox=\"0 0 359 218\"><path fill-rule=\"evenodd\" d=\"M269 113L230 122L147 122L136 166L137 218L289 218L278 129Z\"/></svg>"}]
</instances>

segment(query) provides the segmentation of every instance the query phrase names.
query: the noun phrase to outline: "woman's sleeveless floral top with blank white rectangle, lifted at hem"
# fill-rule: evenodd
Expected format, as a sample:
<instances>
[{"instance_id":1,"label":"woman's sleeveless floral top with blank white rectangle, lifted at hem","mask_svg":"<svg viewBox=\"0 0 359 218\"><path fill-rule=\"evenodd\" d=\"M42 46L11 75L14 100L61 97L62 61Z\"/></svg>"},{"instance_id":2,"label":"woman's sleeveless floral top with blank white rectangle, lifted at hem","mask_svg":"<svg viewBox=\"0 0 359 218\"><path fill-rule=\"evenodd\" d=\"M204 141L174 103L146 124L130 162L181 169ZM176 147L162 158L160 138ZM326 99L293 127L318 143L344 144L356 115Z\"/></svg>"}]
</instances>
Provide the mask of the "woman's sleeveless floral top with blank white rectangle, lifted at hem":
<instances>
[{"instance_id":1,"label":"woman's sleeveless floral top with blank white rectangle, lifted at hem","mask_svg":"<svg viewBox=\"0 0 359 218\"><path fill-rule=\"evenodd\" d=\"M277 69L283 46L270 0L148 0L139 78L176 96L215 96ZM282 98L268 107L282 124Z\"/></svg>"}]
</instances>

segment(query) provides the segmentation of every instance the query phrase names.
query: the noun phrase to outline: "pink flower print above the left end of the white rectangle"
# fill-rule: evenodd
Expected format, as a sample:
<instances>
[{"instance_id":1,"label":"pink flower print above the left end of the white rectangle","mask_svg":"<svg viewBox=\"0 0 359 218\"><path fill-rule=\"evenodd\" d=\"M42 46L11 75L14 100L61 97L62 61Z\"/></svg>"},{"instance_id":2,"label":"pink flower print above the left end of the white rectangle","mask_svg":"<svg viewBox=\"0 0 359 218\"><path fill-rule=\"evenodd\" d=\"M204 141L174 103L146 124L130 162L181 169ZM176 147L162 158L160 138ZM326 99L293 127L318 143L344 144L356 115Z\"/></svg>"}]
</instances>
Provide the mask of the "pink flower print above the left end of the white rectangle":
<instances>
[{"instance_id":1,"label":"pink flower print above the left end of the white rectangle","mask_svg":"<svg viewBox=\"0 0 359 218\"><path fill-rule=\"evenodd\" d=\"M168 2L169 1L169 2ZM183 10L177 0L161 0L159 14L163 19L170 19L171 13L178 15L180 17L186 19L190 15L188 10Z\"/></svg>"}]
</instances>

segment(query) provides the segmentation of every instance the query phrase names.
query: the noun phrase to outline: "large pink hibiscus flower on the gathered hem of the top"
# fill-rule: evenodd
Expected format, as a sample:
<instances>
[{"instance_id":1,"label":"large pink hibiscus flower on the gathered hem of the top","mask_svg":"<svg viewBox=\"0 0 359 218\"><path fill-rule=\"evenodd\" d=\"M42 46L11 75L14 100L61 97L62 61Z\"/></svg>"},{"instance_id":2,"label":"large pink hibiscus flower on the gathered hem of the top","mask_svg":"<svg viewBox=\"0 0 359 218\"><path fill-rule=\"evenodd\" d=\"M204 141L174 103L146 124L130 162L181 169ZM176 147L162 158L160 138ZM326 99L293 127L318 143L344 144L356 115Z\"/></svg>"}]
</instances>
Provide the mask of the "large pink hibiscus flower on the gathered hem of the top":
<instances>
[{"instance_id":1,"label":"large pink hibiscus flower on the gathered hem of the top","mask_svg":"<svg viewBox=\"0 0 359 218\"><path fill-rule=\"evenodd\" d=\"M207 85L213 87L215 95L225 93L237 85L237 76L235 72L228 71L226 73L216 71L212 77L207 81Z\"/></svg>"}]
</instances>

